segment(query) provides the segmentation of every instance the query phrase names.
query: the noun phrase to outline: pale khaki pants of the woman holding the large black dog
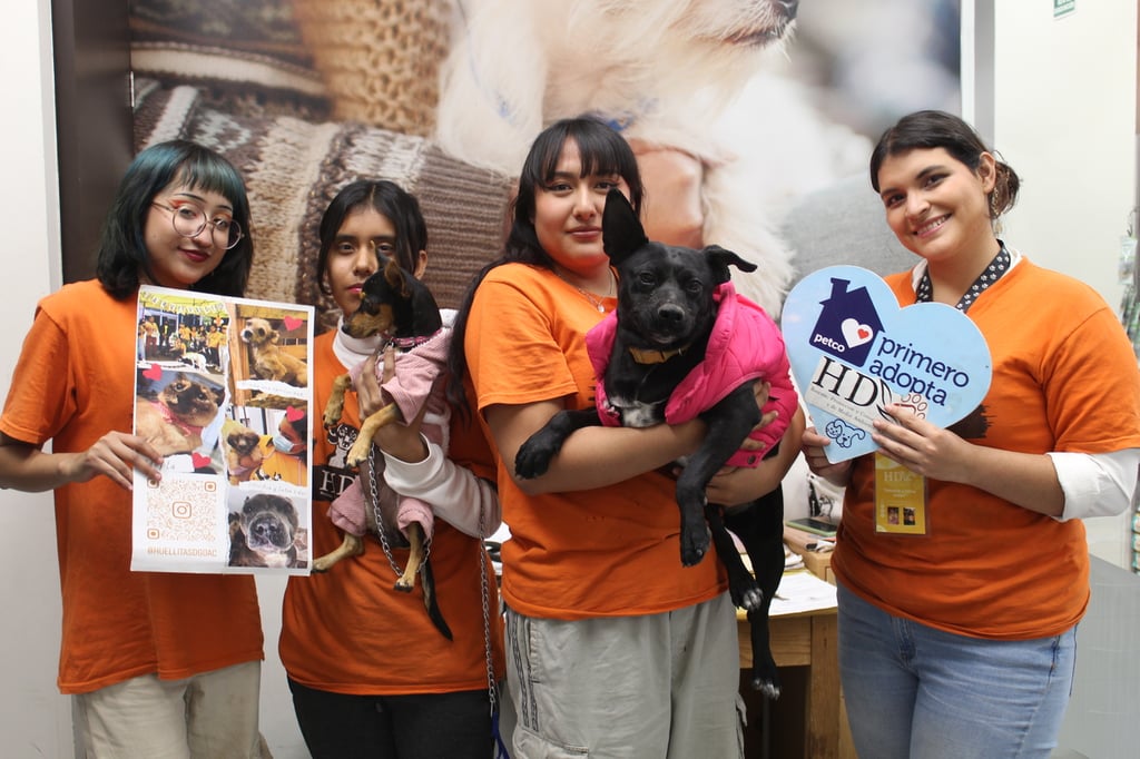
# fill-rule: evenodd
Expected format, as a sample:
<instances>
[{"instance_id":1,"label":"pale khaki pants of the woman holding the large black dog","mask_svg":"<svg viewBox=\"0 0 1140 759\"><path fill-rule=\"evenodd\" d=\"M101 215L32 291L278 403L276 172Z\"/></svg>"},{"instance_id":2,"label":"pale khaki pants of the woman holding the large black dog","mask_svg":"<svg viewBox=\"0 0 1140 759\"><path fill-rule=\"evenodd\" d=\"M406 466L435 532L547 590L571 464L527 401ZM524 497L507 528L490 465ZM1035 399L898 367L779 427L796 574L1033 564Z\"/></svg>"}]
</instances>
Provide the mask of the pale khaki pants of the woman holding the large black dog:
<instances>
[{"instance_id":1,"label":"pale khaki pants of the woman holding the large black dog","mask_svg":"<svg viewBox=\"0 0 1140 759\"><path fill-rule=\"evenodd\" d=\"M573 622L507 610L513 759L743 756L728 594L645 617Z\"/></svg>"}]
</instances>

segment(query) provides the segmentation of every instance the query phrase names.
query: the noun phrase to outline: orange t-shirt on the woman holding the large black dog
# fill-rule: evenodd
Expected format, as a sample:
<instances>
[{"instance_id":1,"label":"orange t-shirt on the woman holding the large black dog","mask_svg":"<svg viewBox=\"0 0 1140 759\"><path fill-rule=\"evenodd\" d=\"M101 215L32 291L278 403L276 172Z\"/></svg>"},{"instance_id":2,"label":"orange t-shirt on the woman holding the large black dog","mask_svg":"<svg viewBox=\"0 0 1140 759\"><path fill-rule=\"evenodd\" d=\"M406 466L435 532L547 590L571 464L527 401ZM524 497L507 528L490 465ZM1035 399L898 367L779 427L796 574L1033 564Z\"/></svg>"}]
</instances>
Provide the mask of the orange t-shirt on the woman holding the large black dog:
<instances>
[{"instance_id":1,"label":"orange t-shirt on the woman holding the large black dog","mask_svg":"<svg viewBox=\"0 0 1140 759\"><path fill-rule=\"evenodd\" d=\"M606 300L608 308L616 304ZM479 409L565 399L593 408L586 332L602 315L546 269L510 263L480 284L465 349ZM577 492L527 496L499 464L499 499L511 540L503 595L529 617L584 619L654 614L715 597L726 587L710 552L681 563L675 481L646 472Z\"/></svg>"}]
</instances>

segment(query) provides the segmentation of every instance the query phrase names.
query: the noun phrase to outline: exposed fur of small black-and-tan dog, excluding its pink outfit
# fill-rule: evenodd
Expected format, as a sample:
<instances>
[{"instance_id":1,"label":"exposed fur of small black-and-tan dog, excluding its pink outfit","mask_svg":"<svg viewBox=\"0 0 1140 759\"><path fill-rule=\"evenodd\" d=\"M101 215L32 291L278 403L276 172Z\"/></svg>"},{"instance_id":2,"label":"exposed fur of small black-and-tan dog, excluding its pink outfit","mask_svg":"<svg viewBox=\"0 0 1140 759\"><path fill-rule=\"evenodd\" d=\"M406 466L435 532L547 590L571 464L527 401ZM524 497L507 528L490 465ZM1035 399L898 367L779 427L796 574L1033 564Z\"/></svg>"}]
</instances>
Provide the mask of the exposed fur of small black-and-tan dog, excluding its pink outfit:
<instances>
[{"instance_id":1,"label":"exposed fur of small black-and-tan dog, excluding its pink outfit","mask_svg":"<svg viewBox=\"0 0 1140 759\"><path fill-rule=\"evenodd\" d=\"M360 307L351 316L345 317L342 329L352 337L363 338L384 334L391 340L399 341L434 335L442 326L443 320L439 312L439 305L427 286L410 272L401 269L394 259L389 259L378 271L365 280L361 286ZM382 367L383 365L377 366L380 369ZM344 393L350 386L351 376L349 374L341 375L334 381L333 391L325 407L324 424L326 427L332 427L340 419L341 413L344 410ZM399 408L396 403L389 403L368 418L363 419L357 439L345 458L348 465L361 466L363 470L367 470L361 471L361 476L376 476L376 473L368 466L368 451L372 448L373 435L384 424L390 424L399 418ZM435 580L431 561L425 553L421 525L412 523L408 528L408 538L405 538L404 533L394 528L397 524L394 508L397 499L381 498L380 501L384 524L376 524L373 509L365 508L368 531L385 530L384 534L389 541L410 548L408 565L397 580L396 589L410 593L415 586L415 576L418 573L427 615L440 635L448 640L453 639L451 629L439 609ZM389 529L386 525L393 527ZM360 541L360 538L345 533L344 542L339 548L316 560L314 571L328 571L342 557L358 555L363 552L364 542Z\"/></svg>"}]
</instances>

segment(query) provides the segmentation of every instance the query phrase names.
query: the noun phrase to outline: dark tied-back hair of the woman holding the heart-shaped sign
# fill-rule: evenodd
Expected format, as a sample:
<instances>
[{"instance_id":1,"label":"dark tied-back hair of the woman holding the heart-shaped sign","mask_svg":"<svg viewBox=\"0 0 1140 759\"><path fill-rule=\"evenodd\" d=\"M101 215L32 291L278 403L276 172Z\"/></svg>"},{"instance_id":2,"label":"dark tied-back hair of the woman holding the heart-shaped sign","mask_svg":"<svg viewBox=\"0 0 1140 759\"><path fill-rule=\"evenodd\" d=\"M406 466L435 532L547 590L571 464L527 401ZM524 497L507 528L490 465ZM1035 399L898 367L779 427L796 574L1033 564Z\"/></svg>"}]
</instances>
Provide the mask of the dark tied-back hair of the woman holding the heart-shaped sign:
<instances>
[{"instance_id":1,"label":"dark tied-back hair of the woman holding the heart-shaped sign","mask_svg":"<svg viewBox=\"0 0 1140 759\"><path fill-rule=\"evenodd\" d=\"M879 169L887 157L919 148L944 148L971 171L977 171L983 153L993 155L996 177L988 205L990 220L995 225L1017 202L1017 190L1021 187L1017 172L995 150L986 147L972 126L944 111L917 111L882 133L871 153L871 187L879 191Z\"/></svg>"}]
</instances>

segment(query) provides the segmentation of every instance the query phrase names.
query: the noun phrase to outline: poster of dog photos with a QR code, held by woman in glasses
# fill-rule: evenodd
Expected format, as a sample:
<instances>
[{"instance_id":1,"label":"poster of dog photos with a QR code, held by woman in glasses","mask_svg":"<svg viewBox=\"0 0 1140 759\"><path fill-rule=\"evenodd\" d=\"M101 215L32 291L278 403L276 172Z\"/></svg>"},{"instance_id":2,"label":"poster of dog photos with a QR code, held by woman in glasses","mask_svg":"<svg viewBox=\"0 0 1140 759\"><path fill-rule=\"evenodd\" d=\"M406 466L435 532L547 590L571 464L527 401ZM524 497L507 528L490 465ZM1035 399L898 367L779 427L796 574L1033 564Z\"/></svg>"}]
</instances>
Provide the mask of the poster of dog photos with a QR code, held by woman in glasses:
<instances>
[{"instance_id":1,"label":"poster of dog photos with a QR code, held by woman in glasses","mask_svg":"<svg viewBox=\"0 0 1140 759\"><path fill-rule=\"evenodd\" d=\"M131 569L308 574L314 309L144 285Z\"/></svg>"}]
</instances>

